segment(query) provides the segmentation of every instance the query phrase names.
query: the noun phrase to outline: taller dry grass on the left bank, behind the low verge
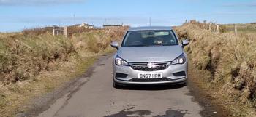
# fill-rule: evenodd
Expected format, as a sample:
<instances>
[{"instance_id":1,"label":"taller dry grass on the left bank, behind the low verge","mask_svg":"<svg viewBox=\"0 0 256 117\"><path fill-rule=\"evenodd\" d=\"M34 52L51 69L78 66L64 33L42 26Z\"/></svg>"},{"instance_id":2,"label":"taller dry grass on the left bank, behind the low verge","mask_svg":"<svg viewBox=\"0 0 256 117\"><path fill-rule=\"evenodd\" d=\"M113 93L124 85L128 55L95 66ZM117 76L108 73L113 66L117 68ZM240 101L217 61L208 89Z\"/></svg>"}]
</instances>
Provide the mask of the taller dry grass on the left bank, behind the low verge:
<instances>
[{"instance_id":1,"label":"taller dry grass on the left bank, behind the low verge","mask_svg":"<svg viewBox=\"0 0 256 117\"><path fill-rule=\"evenodd\" d=\"M0 84L36 80L42 70L54 70L54 62L68 61L77 51L102 52L121 39L126 29L95 30L72 35L71 39L38 31L0 34ZM40 32L40 31L39 31Z\"/></svg>"}]
</instances>

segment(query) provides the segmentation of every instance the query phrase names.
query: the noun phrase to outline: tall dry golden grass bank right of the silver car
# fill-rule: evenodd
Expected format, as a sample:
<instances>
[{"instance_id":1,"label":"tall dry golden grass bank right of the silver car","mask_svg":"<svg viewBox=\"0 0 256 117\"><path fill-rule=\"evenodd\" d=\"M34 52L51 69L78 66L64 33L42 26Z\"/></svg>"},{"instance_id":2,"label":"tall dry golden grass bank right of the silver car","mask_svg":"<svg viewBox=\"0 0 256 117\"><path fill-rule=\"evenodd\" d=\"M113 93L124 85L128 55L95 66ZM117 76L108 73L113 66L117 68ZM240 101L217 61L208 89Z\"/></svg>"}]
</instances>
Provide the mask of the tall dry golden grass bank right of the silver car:
<instances>
[{"instance_id":1,"label":"tall dry golden grass bank right of the silver car","mask_svg":"<svg viewBox=\"0 0 256 117\"><path fill-rule=\"evenodd\" d=\"M256 32L217 33L205 25L192 20L176 27L179 38L190 41L186 51L193 67L206 73L197 82L233 116L255 116Z\"/></svg>"}]
</instances>

